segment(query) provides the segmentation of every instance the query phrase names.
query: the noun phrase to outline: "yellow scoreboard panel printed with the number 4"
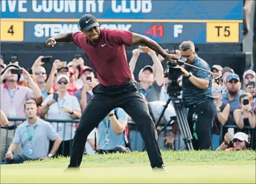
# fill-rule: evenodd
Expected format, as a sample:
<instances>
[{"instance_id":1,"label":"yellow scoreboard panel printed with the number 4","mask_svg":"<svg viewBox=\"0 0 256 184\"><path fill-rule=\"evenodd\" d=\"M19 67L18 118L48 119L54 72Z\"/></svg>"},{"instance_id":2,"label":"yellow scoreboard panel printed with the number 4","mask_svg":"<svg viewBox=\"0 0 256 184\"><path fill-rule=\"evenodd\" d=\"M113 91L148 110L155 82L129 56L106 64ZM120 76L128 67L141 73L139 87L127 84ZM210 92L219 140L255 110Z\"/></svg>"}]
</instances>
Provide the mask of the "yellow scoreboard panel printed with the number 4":
<instances>
[{"instance_id":1,"label":"yellow scoreboard panel printed with the number 4","mask_svg":"<svg viewBox=\"0 0 256 184\"><path fill-rule=\"evenodd\" d=\"M24 22L20 20L0 20L0 40L5 42L24 41Z\"/></svg>"}]
</instances>

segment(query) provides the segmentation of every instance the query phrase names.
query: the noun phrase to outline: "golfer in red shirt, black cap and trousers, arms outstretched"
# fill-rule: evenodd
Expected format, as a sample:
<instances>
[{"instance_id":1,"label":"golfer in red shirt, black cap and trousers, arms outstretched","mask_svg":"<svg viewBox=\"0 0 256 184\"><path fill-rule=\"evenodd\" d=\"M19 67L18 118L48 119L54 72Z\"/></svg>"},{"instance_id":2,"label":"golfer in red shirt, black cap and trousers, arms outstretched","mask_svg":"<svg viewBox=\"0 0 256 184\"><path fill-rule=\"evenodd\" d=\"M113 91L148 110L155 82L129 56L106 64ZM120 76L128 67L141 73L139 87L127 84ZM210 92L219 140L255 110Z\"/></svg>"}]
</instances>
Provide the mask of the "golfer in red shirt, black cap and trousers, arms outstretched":
<instances>
[{"instance_id":1,"label":"golfer in red shirt, black cap and trousers, arms outstretched","mask_svg":"<svg viewBox=\"0 0 256 184\"><path fill-rule=\"evenodd\" d=\"M98 21L91 14L80 18L79 25L81 32L59 34L46 41L48 47L54 47L56 43L75 43L88 56L99 80L76 129L68 170L79 168L87 136L111 110L119 107L138 124L151 167L164 172L157 131L144 99L131 80L125 45L144 44L170 62L179 58L168 54L149 37L130 31L100 29Z\"/></svg>"}]
</instances>

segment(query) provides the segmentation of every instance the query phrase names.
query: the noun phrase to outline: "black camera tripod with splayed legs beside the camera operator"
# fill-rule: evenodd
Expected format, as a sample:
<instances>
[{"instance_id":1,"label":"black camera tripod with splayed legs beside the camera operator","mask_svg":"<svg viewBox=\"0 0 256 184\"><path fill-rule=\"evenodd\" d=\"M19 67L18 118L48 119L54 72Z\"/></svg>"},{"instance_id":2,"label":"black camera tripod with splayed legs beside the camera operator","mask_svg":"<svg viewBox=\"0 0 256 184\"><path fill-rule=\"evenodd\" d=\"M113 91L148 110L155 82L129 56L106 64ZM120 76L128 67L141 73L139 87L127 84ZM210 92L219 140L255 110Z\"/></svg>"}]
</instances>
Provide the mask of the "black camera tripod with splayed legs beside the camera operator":
<instances>
[{"instance_id":1,"label":"black camera tripod with splayed legs beside the camera operator","mask_svg":"<svg viewBox=\"0 0 256 184\"><path fill-rule=\"evenodd\" d=\"M184 105L183 105L183 101L180 98L177 98L177 95L180 93L179 91L171 91L170 90L171 86L169 86L168 84L168 95L171 96L171 98L169 98L166 102L166 104L164 105L163 110L161 111L160 117L158 118L158 121L156 123L156 127L158 127L162 117L164 116L164 111L166 110L166 108L168 107L168 104L170 102L172 102L174 110L176 112L176 117L177 117L177 127L178 129L181 131L181 134L184 137L184 142L187 146L188 150L194 150L193 145L191 140L193 139L191 132L190 132L190 128L189 128L189 123L187 120L187 117L185 115L184 112ZM163 129L161 129L160 132L158 132L158 135L164 130L166 129L166 127L169 125L169 123L167 123L166 125L164 125ZM143 148L143 151L145 150L145 146Z\"/></svg>"}]
</instances>

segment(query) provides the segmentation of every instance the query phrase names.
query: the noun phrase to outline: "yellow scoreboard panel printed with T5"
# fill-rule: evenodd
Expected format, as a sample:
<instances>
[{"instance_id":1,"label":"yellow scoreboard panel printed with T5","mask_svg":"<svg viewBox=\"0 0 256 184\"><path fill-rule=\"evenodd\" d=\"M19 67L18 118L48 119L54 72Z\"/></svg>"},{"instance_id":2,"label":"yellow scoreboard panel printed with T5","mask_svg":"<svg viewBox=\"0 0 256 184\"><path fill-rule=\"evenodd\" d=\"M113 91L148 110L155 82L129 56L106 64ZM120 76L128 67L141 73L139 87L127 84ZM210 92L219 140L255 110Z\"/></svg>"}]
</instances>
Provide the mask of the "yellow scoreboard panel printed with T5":
<instances>
[{"instance_id":1,"label":"yellow scoreboard panel printed with T5","mask_svg":"<svg viewBox=\"0 0 256 184\"><path fill-rule=\"evenodd\" d=\"M206 23L206 42L238 43L239 23Z\"/></svg>"}]
</instances>

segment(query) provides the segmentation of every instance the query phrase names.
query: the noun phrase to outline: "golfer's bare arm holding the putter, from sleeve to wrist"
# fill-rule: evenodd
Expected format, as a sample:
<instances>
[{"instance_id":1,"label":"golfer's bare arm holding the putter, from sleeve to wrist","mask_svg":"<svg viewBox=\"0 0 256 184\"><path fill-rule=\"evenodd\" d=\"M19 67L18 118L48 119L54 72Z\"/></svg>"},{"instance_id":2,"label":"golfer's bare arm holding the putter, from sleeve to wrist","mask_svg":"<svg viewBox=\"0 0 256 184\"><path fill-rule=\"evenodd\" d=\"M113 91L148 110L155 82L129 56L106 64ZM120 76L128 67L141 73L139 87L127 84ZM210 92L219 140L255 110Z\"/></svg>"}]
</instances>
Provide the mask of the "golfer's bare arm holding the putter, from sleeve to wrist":
<instances>
[{"instance_id":1,"label":"golfer's bare arm holding the putter, from sleeve to wrist","mask_svg":"<svg viewBox=\"0 0 256 184\"><path fill-rule=\"evenodd\" d=\"M149 37L146 37L144 35L140 35L137 33L132 33L132 45L135 44L144 44L148 48L154 50L158 54L162 55L164 58L167 57L168 53L154 40L150 39Z\"/></svg>"}]
</instances>

